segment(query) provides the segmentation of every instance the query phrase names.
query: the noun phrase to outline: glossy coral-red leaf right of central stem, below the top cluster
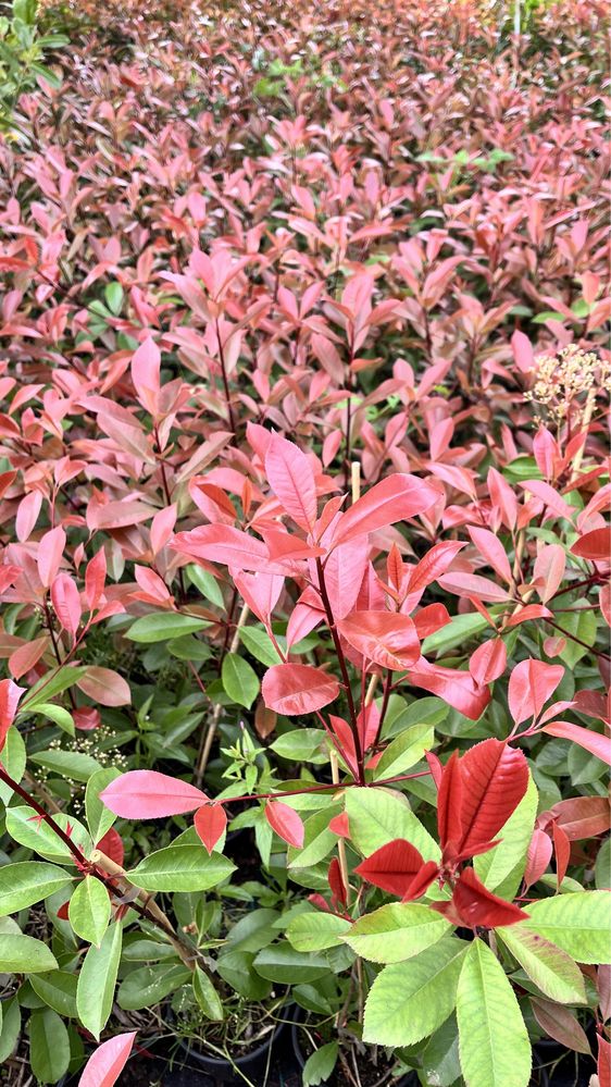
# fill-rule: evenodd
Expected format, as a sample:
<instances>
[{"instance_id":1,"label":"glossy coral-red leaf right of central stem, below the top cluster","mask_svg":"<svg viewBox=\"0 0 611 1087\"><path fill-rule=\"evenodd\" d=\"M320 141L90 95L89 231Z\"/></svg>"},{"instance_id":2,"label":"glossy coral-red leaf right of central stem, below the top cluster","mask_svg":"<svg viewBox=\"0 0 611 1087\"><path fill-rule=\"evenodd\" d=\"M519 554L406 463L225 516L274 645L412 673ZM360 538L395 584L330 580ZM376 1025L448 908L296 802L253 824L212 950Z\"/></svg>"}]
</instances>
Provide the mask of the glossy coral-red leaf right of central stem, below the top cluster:
<instances>
[{"instance_id":1,"label":"glossy coral-red leaf right of central stem, below the top cluster","mask_svg":"<svg viewBox=\"0 0 611 1087\"><path fill-rule=\"evenodd\" d=\"M342 638L382 668L404 671L420 658L420 641L408 615L353 612L337 623Z\"/></svg>"}]
</instances>

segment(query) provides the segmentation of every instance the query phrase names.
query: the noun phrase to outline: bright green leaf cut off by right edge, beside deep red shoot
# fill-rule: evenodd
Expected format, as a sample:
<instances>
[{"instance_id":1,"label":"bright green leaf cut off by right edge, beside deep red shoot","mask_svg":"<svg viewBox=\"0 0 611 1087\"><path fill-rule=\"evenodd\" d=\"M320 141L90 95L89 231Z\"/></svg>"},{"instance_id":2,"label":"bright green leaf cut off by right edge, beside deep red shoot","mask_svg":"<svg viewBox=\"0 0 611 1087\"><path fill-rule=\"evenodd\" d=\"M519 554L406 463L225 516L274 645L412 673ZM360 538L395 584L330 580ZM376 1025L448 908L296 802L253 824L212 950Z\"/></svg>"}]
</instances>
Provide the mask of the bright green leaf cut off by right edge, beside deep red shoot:
<instances>
[{"instance_id":1,"label":"bright green leaf cut off by right edge, beside deep red shoot","mask_svg":"<svg viewBox=\"0 0 611 1087\"><path fill-rule=\"evenodd\" d=\"M579 963L611 963L608 891L571 891L528 906L526 928Z\"/></svg>"}]
</instances>

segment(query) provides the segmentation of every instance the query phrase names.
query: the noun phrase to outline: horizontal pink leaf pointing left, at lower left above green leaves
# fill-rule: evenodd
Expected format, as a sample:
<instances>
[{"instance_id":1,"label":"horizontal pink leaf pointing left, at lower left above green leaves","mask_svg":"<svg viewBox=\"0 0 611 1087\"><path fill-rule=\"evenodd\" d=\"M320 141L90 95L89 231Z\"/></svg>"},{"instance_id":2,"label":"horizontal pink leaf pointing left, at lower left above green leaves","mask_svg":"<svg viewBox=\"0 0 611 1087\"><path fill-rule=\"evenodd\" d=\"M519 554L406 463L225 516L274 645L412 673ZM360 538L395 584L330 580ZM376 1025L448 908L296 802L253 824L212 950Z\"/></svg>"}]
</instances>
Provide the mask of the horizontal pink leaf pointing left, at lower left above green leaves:
<instances>
[{"instance_id":1,"label":"horizontal pink leaf pointing left, at lower left above green leaves","mask_svg":"<svg viewBox=\"0 0 611 1087\"><path fill-rule=\"evenodd\" d=\"M100 800L124 819L184 815L208 803L201 789L159 770L128 770L107 786Z\"/></svg>"}]
</instances>

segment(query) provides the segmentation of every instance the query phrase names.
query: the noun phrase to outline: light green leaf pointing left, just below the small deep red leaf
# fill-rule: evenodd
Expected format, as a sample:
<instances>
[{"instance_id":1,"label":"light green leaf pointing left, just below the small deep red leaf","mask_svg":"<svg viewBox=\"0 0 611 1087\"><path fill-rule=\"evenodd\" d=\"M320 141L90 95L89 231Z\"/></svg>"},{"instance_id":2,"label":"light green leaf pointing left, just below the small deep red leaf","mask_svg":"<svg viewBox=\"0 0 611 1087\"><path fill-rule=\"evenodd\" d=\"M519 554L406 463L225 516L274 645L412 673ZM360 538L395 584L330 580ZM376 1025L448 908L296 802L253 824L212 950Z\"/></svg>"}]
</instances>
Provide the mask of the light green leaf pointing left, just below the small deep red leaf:
<instances>
[{"instance_id":1,"label":"light green leaf pointing left, just below the small deep red leaf","mask_svg":"<svg viewBox=\"0 0 611 1087\"><path fill-rule=\"evenodd\" d=\"M390 902L360 917L344 940L362 959L400 963L437 943L450 927L441 914L420 902Z\"/></svg>"}]
</instances>

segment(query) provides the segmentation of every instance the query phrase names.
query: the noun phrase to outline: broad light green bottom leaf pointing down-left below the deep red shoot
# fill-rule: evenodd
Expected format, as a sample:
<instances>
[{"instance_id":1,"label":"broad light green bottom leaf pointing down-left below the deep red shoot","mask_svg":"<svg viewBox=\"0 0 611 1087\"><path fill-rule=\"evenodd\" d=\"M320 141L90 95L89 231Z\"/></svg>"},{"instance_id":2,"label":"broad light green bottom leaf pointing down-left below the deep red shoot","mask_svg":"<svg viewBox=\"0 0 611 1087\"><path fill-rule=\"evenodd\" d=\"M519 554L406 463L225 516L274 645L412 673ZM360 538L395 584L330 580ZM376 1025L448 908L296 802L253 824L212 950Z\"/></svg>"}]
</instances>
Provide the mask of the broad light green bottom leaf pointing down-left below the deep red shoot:
<instances>
[{"instance_id":1,"label":"broad light green bottom leaf pointing down-left below the deep red shoot","mask_svg":"<svg viewBox=\"0 0 611 1087\"><path fill-rule=\"evenodd\" d=\"M413 1046L433 1034L453 1011L465 950L462 940L449 938L385 966L367 997L363 1040Z\"/></svg>"}]
</instances>

